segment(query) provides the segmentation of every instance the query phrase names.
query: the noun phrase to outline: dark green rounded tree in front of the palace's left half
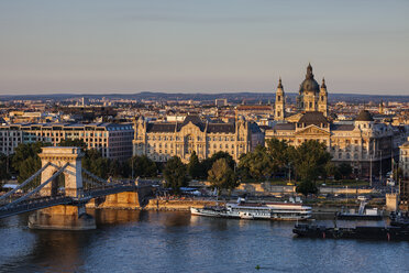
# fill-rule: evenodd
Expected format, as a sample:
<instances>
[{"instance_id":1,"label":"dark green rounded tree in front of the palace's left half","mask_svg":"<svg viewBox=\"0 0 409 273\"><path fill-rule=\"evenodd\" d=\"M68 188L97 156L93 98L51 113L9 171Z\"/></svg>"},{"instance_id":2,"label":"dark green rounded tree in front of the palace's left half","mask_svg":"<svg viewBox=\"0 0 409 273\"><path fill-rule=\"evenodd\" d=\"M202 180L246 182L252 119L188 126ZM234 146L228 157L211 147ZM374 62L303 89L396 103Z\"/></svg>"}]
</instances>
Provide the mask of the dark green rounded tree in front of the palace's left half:
<instances>
[{"instance_id":1,"label":"dark green rounded tree in front of the palace's left half","mask_svg":"<svg viewBox=\"0 0 409 273\"><path fill-rule=\"evenodd\" d=\"M166 162L164 168L165 187L170 187L176 194L180 193L180 187L186 187L186 166L178 156L173 156Z\"/></svg>"}]
</instances>

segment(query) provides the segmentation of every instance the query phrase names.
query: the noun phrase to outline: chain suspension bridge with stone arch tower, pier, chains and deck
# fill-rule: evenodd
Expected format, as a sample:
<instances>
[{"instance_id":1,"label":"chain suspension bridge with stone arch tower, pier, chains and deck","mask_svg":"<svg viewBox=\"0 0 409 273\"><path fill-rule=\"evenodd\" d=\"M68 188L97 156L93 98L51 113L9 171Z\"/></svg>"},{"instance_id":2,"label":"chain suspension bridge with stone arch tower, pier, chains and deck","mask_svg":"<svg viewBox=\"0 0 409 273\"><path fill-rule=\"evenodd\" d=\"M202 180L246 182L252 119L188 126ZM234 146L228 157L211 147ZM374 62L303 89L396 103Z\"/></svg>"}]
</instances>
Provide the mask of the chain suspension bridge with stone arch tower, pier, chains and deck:
<instances>
[{"instance_id":1,"label":"chain suspension bridge with stone arch tower, pier, chains and deck","mask_svg":"<svg viewBox=\"0 0 409 273\"><path fill-rule=\"evenodd\" d=\"M78 221L86 216L85 221L89 222L90 216L86 215L85 210L85 205L89 200L152 186L150 181L135 183L135 181L106 181L98 177L82 168L84 154L79 148L43 148L38 156L42 167L18 187L0 196L0 218L35 211L36 216L31 216L29 219L29 227L53 229L55 226L56 229L90 229L95 228L95 221L91 221L91 225ZM62 176L64 176L64 187L60 185ZM25 194L21 194L22 192ZM59 209L53 210L53 207L59 207ZM45 218L44 215L46 215ZM64 216L64 220L59 219L58 223L55 223L49 219L53 215L54 218L57 218L57 215L59 218ZM76 215L77 219L73 215ZM65 219L67 216L70 220ZM37 223L38 221L41 225Z\"/></svg>"}]
</instances>

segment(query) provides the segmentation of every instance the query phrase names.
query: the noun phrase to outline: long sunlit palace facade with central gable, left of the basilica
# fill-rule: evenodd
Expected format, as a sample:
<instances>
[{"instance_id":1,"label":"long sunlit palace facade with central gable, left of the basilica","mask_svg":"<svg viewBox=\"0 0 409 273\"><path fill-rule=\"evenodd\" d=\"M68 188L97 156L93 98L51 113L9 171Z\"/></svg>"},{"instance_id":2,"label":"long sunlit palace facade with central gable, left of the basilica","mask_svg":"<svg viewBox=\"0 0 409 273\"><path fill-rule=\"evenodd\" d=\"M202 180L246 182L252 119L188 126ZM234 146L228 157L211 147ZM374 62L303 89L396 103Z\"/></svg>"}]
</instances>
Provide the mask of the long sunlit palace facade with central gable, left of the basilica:
<instances>
[{"instance_id":1,"label":"long sunlit palace facade with central gable, left of the basilica","mask_svg":"<svg viewBox=\"0 0 409 273\"><path fill-rule=\"evenodd\" d=\"M133 154L145 154L155 162L177 155L186 163L194 151L200 160L223 151L237 161L258 144L264 144L263 132L243 118L212 123L198 116L188 116L184 122L147 122L140 117L134 122Z\"/></svg>"}]
</instances>

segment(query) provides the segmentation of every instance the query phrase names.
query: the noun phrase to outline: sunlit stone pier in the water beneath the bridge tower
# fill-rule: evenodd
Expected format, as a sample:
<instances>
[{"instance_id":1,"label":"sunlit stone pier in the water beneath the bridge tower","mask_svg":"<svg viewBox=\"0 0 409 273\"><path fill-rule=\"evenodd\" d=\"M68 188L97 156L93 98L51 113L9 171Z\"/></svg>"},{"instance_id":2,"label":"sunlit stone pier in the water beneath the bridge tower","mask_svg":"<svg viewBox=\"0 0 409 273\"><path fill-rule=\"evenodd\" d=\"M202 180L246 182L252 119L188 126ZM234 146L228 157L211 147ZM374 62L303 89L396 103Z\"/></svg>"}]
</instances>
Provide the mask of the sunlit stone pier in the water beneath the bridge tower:
<instances>
[{"instance_id":1,"label":"sunlit stone pier in the water beneath the bridge tower","mask_svg":"<svg viewBox=\"0 0 409 273\"><path fill-rule=\"evenodd\" d=\"M31 229L90 230L96 229L96 219L86 212L85 205L59 205L44 208L29 217Z\"/></svg>"}]
</instances>

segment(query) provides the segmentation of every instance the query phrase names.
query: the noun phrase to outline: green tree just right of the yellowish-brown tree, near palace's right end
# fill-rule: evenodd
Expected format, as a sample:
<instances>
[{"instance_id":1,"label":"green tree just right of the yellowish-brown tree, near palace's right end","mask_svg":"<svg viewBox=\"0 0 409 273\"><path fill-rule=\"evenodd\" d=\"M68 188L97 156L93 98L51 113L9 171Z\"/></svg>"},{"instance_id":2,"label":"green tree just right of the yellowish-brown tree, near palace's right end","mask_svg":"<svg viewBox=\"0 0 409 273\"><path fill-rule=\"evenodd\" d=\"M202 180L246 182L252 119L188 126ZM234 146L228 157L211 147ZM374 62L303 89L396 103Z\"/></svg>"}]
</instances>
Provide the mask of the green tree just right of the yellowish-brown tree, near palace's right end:
<instances>
[{"instance_id":1,"label":"green tree just right of the yellowish-brown tree, near palace's right end","mask_svg":"<svg viewBox=\"0 0 409 273\"><path fill-rule=\"evenodd\" d=\"M239 162L239 172L243 176L264 179L272 175L273 159L265 146L256 146L254 152L243 154Z\"/></svg>"}]
</instances>

